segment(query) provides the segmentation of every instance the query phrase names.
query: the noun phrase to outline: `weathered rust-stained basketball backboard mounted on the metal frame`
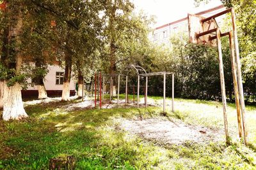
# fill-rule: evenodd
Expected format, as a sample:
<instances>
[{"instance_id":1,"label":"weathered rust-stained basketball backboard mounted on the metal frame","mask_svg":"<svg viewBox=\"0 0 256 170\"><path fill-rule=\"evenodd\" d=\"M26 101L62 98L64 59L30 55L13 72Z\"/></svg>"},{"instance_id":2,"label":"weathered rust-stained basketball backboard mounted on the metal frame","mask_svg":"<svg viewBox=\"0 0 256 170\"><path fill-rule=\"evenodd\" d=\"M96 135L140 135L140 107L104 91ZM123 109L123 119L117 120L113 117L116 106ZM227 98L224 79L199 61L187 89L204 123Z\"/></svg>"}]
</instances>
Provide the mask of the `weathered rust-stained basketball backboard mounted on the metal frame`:
<instances>
[{"instance_id":1,"label":"weathered rust-stained basketball backboard mounted on the metal frame","mask_svg":"<svg viewBox=\"0 0 256 170\"><path fill-rule=\"evenodd\" d=\"M215 32L211 34L206 34L205 36L196 37L197 34L209 31L218 27L215 20L209 20L202 23L201 20L205 17L200 15L188 14L188 31L189 31L189 43L194 43L197 45L207 45L207 46L217 46L216 39L210 41L211 36L216 36Z\"/></svg>"}]
</instances>

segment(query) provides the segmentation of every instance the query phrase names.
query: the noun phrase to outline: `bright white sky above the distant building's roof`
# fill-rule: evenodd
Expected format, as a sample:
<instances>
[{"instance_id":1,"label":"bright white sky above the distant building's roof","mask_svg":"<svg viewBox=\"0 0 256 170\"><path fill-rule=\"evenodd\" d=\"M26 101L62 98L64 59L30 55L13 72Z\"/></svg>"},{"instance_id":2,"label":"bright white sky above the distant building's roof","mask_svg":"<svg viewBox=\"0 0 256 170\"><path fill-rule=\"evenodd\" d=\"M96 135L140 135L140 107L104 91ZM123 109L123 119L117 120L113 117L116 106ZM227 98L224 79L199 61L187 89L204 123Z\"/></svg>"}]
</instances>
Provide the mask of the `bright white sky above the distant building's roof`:
<instances>
[{"instance_id":1,"label":"bright white sky above the distant building's roof","mask_svg":"<svg viewBox=\"0 0 256 170\"><path fill-rule=\"evenodd\" d=\"M220 0L211 0L195 8L194 0L133 0L136 11L143 10L147 15L156 16L156 25L159 27L175 20L179 20L188 13L197 13L208 10L221 4Z\"/></svg>"}]
</instances>

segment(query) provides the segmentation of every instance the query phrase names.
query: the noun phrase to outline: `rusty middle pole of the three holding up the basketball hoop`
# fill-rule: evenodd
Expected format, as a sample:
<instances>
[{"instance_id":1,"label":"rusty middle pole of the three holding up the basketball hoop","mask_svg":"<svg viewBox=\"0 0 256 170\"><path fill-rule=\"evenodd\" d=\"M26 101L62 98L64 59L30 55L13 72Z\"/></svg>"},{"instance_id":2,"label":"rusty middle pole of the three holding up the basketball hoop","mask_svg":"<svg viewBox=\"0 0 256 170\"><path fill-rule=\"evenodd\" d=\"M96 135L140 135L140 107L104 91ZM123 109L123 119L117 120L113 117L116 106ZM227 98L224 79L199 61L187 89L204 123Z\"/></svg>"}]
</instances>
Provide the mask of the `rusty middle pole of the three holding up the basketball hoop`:
<instances>
[{"instance_id":1,"label":"rusty middle pole of the three holding up the basketball hoop","mask_svg":"<svg viewBox=\"0 0 256 170\"><path fill-rule=\"evenodd\" d=\"M234 39L233 39L232 31L229 32L229 45L230 45L230 58L231 58L231 66L232 66L234 92L235 92L235 99L236 99L238 131L239 131L239 138L242 138L243 137L243 127L241 124L241 107L240 107L240 101L239 101L239 90L238 90L238 85L237 85L235 47L234 47Z\"/></svg>"}]
</instances>

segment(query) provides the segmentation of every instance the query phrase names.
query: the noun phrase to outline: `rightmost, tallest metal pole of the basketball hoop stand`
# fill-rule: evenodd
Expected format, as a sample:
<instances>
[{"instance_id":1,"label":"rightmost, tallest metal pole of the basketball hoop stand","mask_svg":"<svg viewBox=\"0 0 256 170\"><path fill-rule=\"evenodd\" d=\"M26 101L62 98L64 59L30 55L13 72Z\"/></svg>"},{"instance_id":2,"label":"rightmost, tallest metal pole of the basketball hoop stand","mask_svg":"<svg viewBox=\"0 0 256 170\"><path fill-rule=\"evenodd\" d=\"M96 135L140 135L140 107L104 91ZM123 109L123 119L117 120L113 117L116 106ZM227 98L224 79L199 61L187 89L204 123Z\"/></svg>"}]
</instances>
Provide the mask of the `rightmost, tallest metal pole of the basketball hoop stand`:
<instances>
[{"instance_id":1,"label":"rightmost, tallest metal pole of the basketball hoop stand","mask_svg":"<svg viewBox=\"0 0 256 170\"><path fill-rule=\"evenodd\" d=\"M239 56L238 39L237 39L236 14L235 14L234 8L232 8L232 10L231 10L231 18L232 18L232 27L233 27L233 32L234 32L234 40L235 40L237 80L238 80L239 98L240 98L240 104L241 104L241 113L242 113L242 120L243 120L243 129L244 129L244 144L248 145L248 129L247 129L247 125L246 125L243 80L242 80L242 73L241 73L241 61L240 61L240 56Z\"/></svg>"}]
</instances>

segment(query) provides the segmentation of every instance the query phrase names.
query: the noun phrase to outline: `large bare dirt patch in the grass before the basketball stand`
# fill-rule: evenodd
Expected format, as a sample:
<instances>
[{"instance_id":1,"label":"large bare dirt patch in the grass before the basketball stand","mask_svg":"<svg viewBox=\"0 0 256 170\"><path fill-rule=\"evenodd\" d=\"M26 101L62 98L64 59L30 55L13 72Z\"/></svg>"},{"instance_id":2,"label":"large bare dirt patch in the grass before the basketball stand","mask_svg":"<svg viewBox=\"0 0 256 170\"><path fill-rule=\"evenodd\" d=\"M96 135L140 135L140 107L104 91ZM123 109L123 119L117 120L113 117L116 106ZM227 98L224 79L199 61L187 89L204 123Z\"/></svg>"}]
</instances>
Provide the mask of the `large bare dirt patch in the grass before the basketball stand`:
<instances>
[{"instance_id":1,"label":"large bare dirt patch in the grass before the basketball stand","mask_svg":"<svg viewBox=\"0 0 256 170\"><path fill-rule=\"evenodd\" d=\"M145 120L118 119L120 129L145 139L154 139L166 144L209 143L224 141L224 131L214 131L202 126L186 125L180 120L169 121L160 118Z\"/></svg>"}]
</instances>

